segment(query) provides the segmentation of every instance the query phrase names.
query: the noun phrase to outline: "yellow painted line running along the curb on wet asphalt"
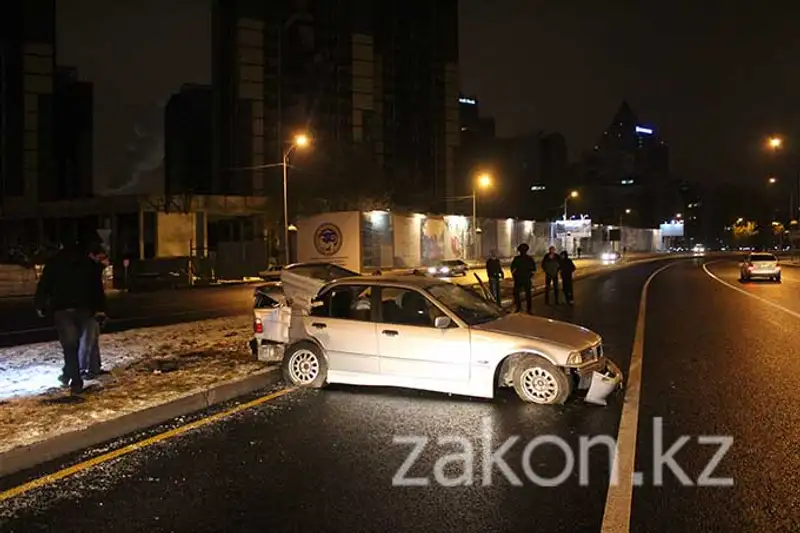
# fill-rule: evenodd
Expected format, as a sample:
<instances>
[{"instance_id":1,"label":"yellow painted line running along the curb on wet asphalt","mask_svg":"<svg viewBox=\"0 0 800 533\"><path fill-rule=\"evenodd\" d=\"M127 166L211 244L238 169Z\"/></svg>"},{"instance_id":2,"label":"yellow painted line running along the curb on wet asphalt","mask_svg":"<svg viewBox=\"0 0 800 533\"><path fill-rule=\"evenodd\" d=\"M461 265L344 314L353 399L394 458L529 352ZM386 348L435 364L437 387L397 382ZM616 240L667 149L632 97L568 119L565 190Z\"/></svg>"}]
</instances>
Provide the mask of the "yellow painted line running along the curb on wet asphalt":
<instances>
[{"instance_id":1,"label":"yellow painted line running along the curb on wet asphalt","mask_svg":"<svg viewBox=\"0 0 800 533\"><path fill-rule=\"evenodd\" d=\"M133 453L133 452L135 452L137 450L141 450L143 448L147 448L148 446L152 446L153 444L157 444L159 442L162 442L162 441L174 438L174 437L178 437L178 436L183 435L184 433L188 433L189 431L192 431L194 429L201 428L201 427L207 426L209 424L213 424L214 422L216 422L218 420L221 420L223 418L227 418L227 417L229 417L231 415L235 415L236 413L240 413L242 411L246 411L247 409L250 409L251 407L255 407L257 405L261 405L262 403L266 403L266 402L268 402L270 400L274 400L275 398L280 398L281 396L284 396L284 395L286 395L286 394L288 394L288 393L290 393L290 392L292 392L294 390L295 390L294 388L282 389L282 390L279 390L279 391L274 392L272 394L268 394L266 396L261 396L260 398L256 398L255 400L252 400L250 402L243 403L241 405L237 405L236 407L232 407L232 408L230 408L230 409L228 409L226 411L222 411L220 413L216 413L216 414L208 416L206 418L201 418L199 420L195 420L194 422L190 422L188 424L185 424L183 426L177 427L175 429L171 429L169 431L165 431L164 433L159 433L158 435L153 435L152 437L146 438L146 439L141 440L139 442L134 442L133 444L129 444L127 446L123 446L122 448L116 449L114 451L111 451L111 452L108 452L108 453L104 453L102 455L98 455L97 457L93 457L92 459L89 459L89 460L84 461L82 463L78 463L76 465L72 465L70 467L64 468L62 470L59 470L58 472L54 472L52 474L48 474L46 476L42 476L40 478L34 479L34 480L29 481L27 483L24 483L22 485L13 487L13 488L8 489L8 490L6 490L4 492L0 492L0 503L4 502L6 500L9 500L11 498L14 498L16 496L20 496L22 494L25 494L26 492L29 492L29 491L31 491L33 489L36 489L36 488L39 488L39 487L44 487L45 485L49 485L51 483L55 483L56 481L59 481L59 480L64 479L66 477L72 476L72 475L77 474L79 472L83 472L85 470L88 470L88 469L92 468L93 466L97 466L99 464L106 463L106 462L111 461L113 459L117 459L118 457L122 457L124 455L128 455L128 454Z\"/></svg>"}]
</instances>

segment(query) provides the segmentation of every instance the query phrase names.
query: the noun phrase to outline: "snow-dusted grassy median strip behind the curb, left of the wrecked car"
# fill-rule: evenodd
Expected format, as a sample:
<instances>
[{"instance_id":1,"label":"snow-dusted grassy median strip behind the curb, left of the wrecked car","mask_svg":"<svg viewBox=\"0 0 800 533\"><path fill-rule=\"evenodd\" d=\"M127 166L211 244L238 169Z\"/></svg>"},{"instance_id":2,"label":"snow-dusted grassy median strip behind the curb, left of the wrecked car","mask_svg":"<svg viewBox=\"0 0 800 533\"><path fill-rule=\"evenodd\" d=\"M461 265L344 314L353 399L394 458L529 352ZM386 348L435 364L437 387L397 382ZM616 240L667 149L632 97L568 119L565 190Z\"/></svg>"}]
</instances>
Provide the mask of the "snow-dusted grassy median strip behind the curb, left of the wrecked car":
<instances>
[{"instance_id":1,"label":"snow-dusted grassy median strip behind the curb, left of the wrecked car","mask_svg":"<svg viewBox=\"0 0 800 533\"><path fill-rule=\"evenodd\" d=\"M58 343L0 349L0 452L84 429L263 370L249 316L103 335L109 376L80 397L58 389Z\"/></svg>"}]
</instances>

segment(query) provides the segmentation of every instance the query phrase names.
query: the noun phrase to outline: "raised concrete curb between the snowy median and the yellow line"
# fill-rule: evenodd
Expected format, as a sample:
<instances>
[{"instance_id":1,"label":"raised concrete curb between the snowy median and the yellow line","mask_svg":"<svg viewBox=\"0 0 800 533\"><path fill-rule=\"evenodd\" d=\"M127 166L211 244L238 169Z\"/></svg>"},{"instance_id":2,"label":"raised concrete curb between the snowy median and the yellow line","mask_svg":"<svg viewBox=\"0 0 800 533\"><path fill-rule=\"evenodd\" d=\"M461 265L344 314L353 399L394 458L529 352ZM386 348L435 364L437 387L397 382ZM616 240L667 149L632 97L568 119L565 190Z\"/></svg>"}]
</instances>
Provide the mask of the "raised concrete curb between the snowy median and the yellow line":
<instances>
[{"instance_id":1,"label":"raised concrete curb between the snowy median and the yellow line","mask_svg":"<svg viewBox=\"0 0 800 533\"><path fill-rule=\"evenodd\" d=\"M280 367L213 385L175 400L128 413L84 429L70 431L0 453L0 477L33 468L104 442L135 433L273 385Z\"/></svg>"}]
</instances>

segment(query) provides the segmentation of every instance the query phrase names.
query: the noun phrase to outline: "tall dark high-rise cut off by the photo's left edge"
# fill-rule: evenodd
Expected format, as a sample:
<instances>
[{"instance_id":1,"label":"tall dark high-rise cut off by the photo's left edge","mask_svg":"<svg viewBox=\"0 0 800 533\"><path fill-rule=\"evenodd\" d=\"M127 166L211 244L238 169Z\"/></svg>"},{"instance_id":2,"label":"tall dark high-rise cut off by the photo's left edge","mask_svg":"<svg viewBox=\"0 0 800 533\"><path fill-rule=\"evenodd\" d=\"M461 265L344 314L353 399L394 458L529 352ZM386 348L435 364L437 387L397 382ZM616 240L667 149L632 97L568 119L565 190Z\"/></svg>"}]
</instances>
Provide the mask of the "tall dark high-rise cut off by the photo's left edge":
<instances>
[{"instance_id":1,"label":"tall dark high-rise cut off by the photo's left edge","mask_svg":"<svg viewBox=\"0 0 800 533\"><path fill-rule=\"evenodd\" d=\"M0 4L0 209L53 177L55 1Z\"/></svg>"}]
</instances>

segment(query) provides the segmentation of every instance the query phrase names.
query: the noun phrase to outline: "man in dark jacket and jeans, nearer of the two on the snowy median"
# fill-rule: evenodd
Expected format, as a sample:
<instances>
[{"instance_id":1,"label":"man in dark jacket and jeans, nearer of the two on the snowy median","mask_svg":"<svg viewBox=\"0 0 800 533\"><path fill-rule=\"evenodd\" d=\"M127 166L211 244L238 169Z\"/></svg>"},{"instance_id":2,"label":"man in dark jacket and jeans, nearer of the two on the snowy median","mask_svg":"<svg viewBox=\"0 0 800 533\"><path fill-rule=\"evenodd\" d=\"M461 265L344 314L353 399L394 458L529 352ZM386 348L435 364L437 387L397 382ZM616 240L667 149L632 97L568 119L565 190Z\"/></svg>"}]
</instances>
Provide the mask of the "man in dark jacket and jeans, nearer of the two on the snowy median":
<instances>
[{"instance_id":1,"label":"man in dark jacket and jeans, nearer of the two on the snowy median","mask_svg":"<svg viewBox=\"0 0 800 533\"><path fill-rule=\"evenodd\" d=\"M105 292L97 264L87 251L69 243L44 267L36 287L36 310L40 317L53 315L58 339L64 350L61 384L73 393L83 390L78 352L81 337L91 329L95 314L105 313ZM93 344L93 339L86 339ZM91 345L90 344L90 345Z\"/></svg>"}]
</instances>

